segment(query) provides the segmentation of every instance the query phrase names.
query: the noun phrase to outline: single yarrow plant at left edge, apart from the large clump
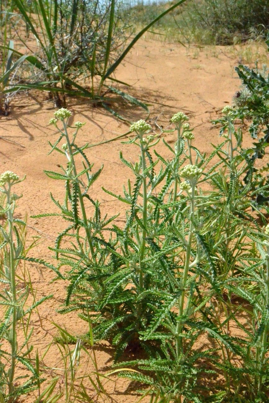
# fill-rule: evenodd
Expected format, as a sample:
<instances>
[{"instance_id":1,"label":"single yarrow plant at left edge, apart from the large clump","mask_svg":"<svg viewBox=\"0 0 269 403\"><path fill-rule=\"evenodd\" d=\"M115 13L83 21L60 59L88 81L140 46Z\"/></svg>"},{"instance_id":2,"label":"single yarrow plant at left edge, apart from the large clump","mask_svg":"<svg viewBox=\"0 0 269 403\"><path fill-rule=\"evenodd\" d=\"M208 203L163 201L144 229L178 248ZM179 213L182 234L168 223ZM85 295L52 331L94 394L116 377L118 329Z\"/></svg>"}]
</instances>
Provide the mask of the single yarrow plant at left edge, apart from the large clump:
<instances>
[{"instance_id":1,"label":"single yarrow plant at left edge, apart from the large clump","mask_svg":"<svg viewBox=\"0 0 269 403\"><path fill-rule=\"evenodd\" d=\"M2 237L0 282L3 285L0 303L4 307L0 325L0 337L4 342L0 351L0 398L8 403L17 401L20 395L38 388L42 382L29 360L33 350L33 346L29 344L33 329L29 332L25 329L29 328L31 312L45 299L51 297L51 295L44 297L34 301L33 305L25 307L29 295L28 286L19 286L19 278L17 278L19 264L25 259L26 254L20 227L25 227L26 223L16 218L15 208L19 196L13 193L13 187L24 179L25 177L19 179L18 175L11 171L6 171L0 176L0 191L5 195L5 205L2 207L1 215L6 218L4 224L0 226ZM21 345L17 338L19 325L24 329L25 336ZM17 374L17 364L23 365L26 375ZM19 380L23 378L26 378L25 382L19 384Z\"/></svg>"}]
</instances>

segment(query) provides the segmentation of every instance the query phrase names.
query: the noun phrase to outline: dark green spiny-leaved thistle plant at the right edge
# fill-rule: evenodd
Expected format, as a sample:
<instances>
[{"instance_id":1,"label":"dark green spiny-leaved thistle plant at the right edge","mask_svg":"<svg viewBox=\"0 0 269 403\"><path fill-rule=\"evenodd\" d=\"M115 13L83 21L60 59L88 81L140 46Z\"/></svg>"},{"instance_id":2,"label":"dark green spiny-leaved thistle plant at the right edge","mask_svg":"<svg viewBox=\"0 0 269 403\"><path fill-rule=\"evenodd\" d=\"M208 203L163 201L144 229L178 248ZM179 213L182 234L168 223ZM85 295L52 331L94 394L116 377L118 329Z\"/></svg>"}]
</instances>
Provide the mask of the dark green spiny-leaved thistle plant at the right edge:
<instances>
[{"instance_id":1,"label":"dark green spiny-leaved thistle plant at the right edge","mask_svg":"<svg viewBox=\"0 0 269 403\"><path fill-rule=\"evenodd\" d=\"M247 150L240 150L245 159L247 169L243 178L243 185L250 187L249 197L255 199L254 207L259 210L265 209L268 212L269 184L265 172L268 170L267 161L264 164L257 164L266 155L266 147L269 139L268 120L268 75L260 71L257 66L250 69L240 64L235 67L239 78L242 81L242 88L236 92L233 98L234 116L238 122L242 122L244 129L247 129L255 140L252 147ZM246 127L244 121L250 121ZM218 119L223 131L225 122Z\"/></svg>"}]
</instances>

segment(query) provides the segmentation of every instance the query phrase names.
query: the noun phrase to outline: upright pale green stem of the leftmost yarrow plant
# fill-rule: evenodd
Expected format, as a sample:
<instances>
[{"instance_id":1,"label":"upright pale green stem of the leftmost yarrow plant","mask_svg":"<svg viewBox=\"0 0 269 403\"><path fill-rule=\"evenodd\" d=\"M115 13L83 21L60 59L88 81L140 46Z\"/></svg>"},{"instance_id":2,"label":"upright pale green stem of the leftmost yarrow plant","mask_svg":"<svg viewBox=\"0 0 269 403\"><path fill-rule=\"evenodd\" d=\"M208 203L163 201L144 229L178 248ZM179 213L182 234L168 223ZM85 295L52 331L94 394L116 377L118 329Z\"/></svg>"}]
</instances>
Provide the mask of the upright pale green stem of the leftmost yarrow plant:
<instances>
[{"instance_id":1,"label":"upright pale green stem of the leftmost yarrow plant","mask_svg":"<svg viewBox=\"0 0 269 403\"><path fill-rule=\"evenodd\" d=\"M7 200L6 203L10 205L10 189L11 185L8 185L8 191L6 193ZM16 324L17 324L17 294L16 294L16 278L15 278L15 251L13 245L13 210L12 207L8 209L8 238L9 238L9 254L10 254L10 289L11 298L13 305L12 314L12 328L11 328L11 366L9 372L8 380L8 394L12 395L14 390L13 380L15 374L15 364L17 357L17 334L16 334Z\"/></svg>"}]
</instances>

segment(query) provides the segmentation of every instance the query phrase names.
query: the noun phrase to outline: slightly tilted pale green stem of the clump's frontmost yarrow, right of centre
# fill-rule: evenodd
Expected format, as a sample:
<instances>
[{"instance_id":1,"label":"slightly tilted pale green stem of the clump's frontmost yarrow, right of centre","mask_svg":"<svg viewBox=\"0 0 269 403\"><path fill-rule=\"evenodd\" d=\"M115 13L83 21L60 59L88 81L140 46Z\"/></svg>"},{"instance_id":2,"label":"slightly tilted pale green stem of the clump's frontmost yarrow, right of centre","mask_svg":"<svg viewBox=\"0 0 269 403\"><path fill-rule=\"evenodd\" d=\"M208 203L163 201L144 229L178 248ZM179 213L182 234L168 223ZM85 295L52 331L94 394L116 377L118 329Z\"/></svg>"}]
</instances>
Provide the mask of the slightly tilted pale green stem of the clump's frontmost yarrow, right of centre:
<instances>
[{"instance_id":1,"label":"slightly tilted pale green stem of the clump's frontmost yarrow, right of centre","mask_svg":"<svg viewBox=\"0 0 269 403\"><path fill-rule=\"evenodd\" d=\"M189 266L190 266L190 257L191 257L191 250L192 250L192 233L194 230L194 225L193 225L193 215L194 215L194 209L195 209L195 203L194 203L194 196L195 196L195 183L192 183L192 195L191 195L191 206L190 206L190 230L189 230L189 235L188 235L188 243L187 243L187 251L186 251L186 259L185 259L185 265L184 265L184 272L183 272L183 277L181 280L181 295L179 297L179 311L178 311L178 318L180 318L183 315L184 311L184 299L185 299L185 286L186 286L186 281L188 278L188 272L189 272ZM182 346L182 338L179 336L179 333L181 333L182 330L182 324L180 321L177 323L177 330L176 330L176 350L177 350L177 357L179 357L180 352L183 352L183 346Z\"/></svg>"}]
</instances>

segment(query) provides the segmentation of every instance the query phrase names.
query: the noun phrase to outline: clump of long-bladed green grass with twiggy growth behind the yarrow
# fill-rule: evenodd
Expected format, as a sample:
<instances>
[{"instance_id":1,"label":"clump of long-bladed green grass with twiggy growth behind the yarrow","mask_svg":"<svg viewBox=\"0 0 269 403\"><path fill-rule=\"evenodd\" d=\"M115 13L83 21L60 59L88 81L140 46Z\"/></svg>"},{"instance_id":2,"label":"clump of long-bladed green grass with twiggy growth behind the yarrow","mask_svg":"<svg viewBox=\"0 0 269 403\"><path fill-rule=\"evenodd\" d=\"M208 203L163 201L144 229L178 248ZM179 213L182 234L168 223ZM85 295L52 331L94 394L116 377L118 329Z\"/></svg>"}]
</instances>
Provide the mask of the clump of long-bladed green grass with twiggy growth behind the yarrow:
<instances>
[{"instance_id":1,"label":"clump of long-bladed green grass with twiggy growth behind the yarrow","mask_svg":"<svg viewBox=\"0 0 269 403\"><path fill-rule=\"evenodd\" d=\"M154 23L185 1L172 4L152 21L147 21L127 44L129 25L121 18L121 4L115 0L50 1L46 4L41 0L30 4L13 0L13 11L15 7L19 10L21 24L19 29L13 19L6 20L6 24L9 35L16 37L26 55L11 49L7 42L2 45L3 54L13 50L13 58L24 61L8 88L2 88L2 95L29 89L47 91L56 107L65 106L67 96L85 97L93 105L103 106L122 118L108 104L106 93L111 92L148 112L146 104L108 83L123 83L114 77L114 72L129 50ZM8 6L4 4L4 7L7 12ZM6 78L4 75L0 81Z\"/></svg>"}]
</instances>

